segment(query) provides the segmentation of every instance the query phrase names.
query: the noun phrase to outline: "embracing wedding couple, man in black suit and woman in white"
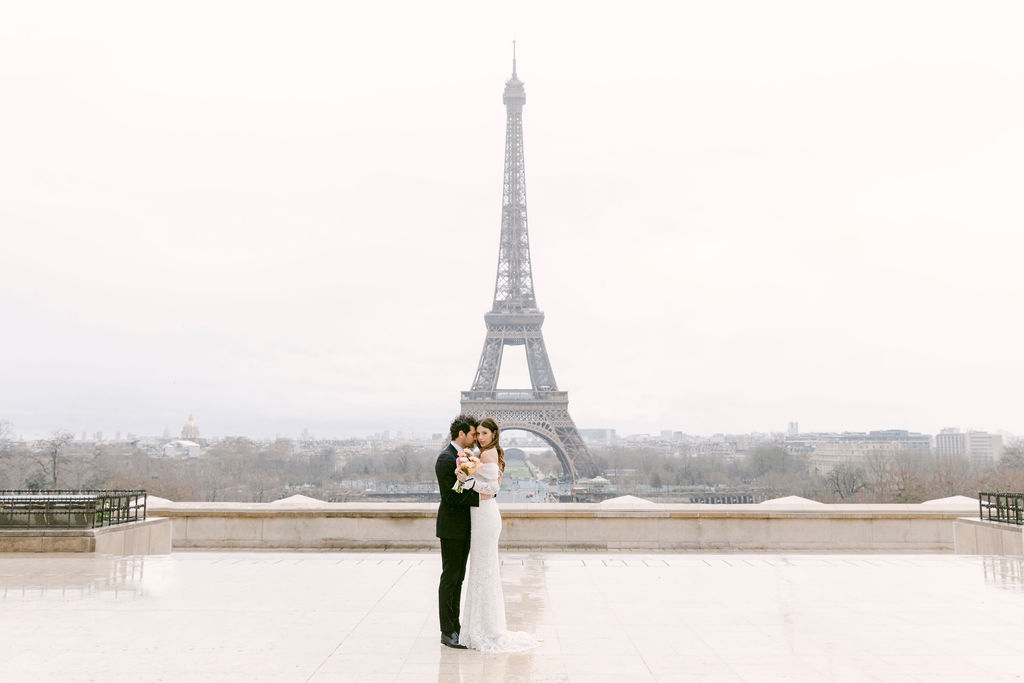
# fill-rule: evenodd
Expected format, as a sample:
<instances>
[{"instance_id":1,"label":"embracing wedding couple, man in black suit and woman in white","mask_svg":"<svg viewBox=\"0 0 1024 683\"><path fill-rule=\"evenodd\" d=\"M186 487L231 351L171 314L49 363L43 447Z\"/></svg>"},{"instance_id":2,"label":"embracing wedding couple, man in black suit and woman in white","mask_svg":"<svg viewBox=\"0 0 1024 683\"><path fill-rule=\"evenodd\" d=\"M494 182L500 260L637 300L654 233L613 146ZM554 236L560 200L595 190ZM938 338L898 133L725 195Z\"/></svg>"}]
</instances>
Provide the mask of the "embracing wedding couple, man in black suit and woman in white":
<instances>
[{"instance_id":1,"label":"embracing wedding couple, man in black suit and woman in white","mask_svg":"<svg viewBox=\"0 0 1024 683\"><path fill-rule=\"evenodd\" d=\"M498 559L502 516L495 500L505 471L505 451L499 442L501 430L492 418L477 422L472 416L460 415L449 431L452 442L434 464L441 492L437 508L437 538L441 541L441 579L437 587L441 643L481 652L515 652L536 647L540 641L530 634L505 628L505 595ZM479 445L478 456L473 455L474 445ZM460 456L478 460L472 476L457 465ZM460 622L464 580L466 600Z\"/></svg>"}]
</instances>

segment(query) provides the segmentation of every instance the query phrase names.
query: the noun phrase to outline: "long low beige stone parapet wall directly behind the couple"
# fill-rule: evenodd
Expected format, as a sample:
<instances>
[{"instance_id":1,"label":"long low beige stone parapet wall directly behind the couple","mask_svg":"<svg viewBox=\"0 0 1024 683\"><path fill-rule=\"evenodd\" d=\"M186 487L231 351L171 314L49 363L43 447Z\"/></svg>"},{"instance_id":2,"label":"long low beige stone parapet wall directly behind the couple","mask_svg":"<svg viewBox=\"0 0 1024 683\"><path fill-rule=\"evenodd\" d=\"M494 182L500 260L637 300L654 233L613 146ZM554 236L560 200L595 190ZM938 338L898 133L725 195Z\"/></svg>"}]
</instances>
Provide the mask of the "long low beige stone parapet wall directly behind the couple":
<instances>
[{"instance_id":1,"label":"long low beige stone parapet wall directly behind the couple","mask_svg":"<svg viewBox=\"0 0 1024 683\"><path fill-rule=\"evenodd\" d=\"M176 549L425 550L437 506L319 503L151 504ZM952 552L957 517L933 505L502 505L507 550Z\"/></svg>"}]
</instances>

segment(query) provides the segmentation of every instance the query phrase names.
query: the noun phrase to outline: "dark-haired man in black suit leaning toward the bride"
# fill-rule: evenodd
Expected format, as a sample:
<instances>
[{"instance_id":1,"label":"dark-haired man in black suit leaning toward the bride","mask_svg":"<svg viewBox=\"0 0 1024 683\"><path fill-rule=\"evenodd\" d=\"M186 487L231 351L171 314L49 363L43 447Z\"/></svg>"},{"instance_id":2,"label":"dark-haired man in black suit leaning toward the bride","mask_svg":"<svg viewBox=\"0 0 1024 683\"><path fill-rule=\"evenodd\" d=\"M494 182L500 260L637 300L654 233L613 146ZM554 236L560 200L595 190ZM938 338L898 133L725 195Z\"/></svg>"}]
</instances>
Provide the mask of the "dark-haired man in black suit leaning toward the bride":
<instances>
[{"instance_id":1,"label":"dark-haired man in black suit leaning toward the bride","mask_svg":"<svg viewBox=\"0 0 1024 683\"><path fill-rule=\"evenodd\" d=\"M455 473L459 452L476 443L476 418L460 415L452 422L449 432L452 442L437 456L434 474L441 492L437 508L437 538L441 540L441 581L437 587L437 611L441 623L441 642L449 647L465 649L459 644L459 601L462 581L466 578L469 557L469 509L480 505L480 495L472 490L473 480ZM464 480L463 493L452 489L456 480Z\"/></svg>"}]
</instances>

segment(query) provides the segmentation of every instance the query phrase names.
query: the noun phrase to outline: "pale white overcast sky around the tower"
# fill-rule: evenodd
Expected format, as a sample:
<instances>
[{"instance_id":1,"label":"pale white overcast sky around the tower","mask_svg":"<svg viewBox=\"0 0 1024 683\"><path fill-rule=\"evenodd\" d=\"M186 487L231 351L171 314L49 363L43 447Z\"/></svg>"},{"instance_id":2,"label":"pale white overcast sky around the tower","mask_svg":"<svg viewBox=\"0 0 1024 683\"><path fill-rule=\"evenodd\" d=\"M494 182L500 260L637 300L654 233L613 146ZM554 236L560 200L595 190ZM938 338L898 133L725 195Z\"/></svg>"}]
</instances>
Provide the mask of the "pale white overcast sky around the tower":
<instances>
[{"instance_id":1,"label":"pale white overcast sky around the tower","mask_svg":"<svg viewBox=\"0 0 1024 683\"><path fill-rule=\"evenodd\" d=\"M442 431L515 38L580 427L1024 433L1022 35L1017 0L0 0L0 420Z\"/></svg>"}]
</instances>

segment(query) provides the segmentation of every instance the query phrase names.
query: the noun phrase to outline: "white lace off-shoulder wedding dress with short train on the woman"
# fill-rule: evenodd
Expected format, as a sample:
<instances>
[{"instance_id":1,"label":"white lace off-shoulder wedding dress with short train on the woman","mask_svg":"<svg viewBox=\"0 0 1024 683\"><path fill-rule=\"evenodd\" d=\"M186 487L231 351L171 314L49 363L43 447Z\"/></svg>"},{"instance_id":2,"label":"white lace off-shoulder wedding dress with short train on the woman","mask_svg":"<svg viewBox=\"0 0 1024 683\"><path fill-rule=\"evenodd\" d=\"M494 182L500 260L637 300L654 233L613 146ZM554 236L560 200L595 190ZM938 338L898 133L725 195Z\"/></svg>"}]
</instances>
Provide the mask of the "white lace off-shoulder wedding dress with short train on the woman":
<instances>
[{"instance_id":1,"label":"white lace off-shoulder wedding dress with short train on the woman","mask_svg":"<svg viewBox=\"0 0 1024 683\"><path fill-rule=\"evenodd\" d=\"M484 463L473 477L477 492L498 494L497 463ZM537 647L541 641L531 634L505 628L505 593L498 561L498 537L502 532L498 502L494 498L481 498L480 507L470 508L469 515L469 568L459 644L481 652L517 652Z\"/></svg>"}]
</instances>

